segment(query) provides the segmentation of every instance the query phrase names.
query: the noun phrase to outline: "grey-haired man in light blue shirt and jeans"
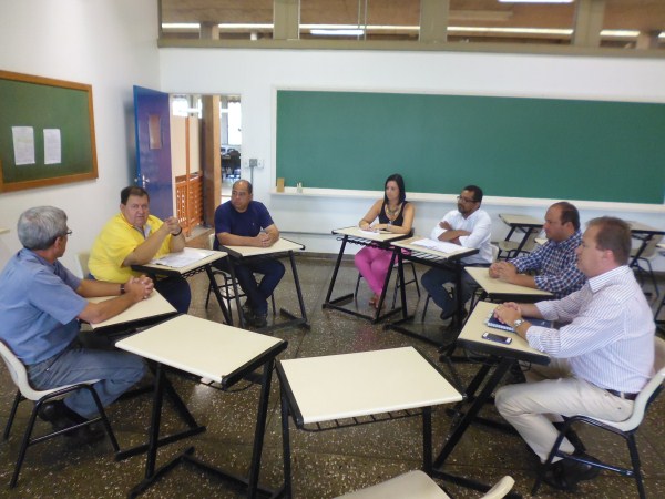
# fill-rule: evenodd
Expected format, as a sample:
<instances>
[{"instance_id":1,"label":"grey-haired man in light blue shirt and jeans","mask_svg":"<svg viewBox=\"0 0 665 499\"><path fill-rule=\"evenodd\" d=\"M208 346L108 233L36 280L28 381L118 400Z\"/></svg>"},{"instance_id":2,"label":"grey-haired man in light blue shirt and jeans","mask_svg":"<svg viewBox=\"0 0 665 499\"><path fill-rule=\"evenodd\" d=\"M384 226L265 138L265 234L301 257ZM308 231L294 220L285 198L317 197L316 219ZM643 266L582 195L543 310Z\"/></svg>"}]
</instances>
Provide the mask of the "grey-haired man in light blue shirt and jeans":
<instances>
[{"instance_id":1,"label":"grey-haired man in light blue shirt and jeans","mask_svg":"<svg viewBox=\"0 0 665 499\"><path fill-rule=\"evenodd\" d=\"M79 320L99 323L125 310L152 293L147 277L124 284L80 279L59 261L71 231L65 213L53 206L23 212L18 223L23 248L0 274L0 340L25 365L30 384L40 390L99 379L94 384L106 406L139 381L145 366L140 357L112 350L83 348ZM89 297L117 295L102 303ZM55 429L82 422L96 413L88 391L44 404L40 417ZM99 429L83 427L76 436L93 439Z\"/></svg>"}]
</instances>

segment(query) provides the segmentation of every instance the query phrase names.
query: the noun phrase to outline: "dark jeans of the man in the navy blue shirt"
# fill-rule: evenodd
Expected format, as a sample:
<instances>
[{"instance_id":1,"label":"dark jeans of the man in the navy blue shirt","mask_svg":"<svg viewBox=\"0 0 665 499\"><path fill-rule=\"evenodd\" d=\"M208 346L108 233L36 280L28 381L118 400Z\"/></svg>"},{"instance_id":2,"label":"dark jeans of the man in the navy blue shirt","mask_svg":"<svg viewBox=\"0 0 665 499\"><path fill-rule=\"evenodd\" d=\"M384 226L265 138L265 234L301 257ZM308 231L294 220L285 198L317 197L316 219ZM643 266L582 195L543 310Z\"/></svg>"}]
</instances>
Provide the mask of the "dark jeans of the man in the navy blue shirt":
<instances>
[{"instance_id":1,"label":"dark jeans of the man in the navy blue shirt","mask_svg":"<svg viewBox=\"0 0 665 499\"><path fill-rule=\"evenodd\" d=\"M216 264L217 268L229 272L227 258ZM266 258L248 263L235 263L233 266L238 285L247 296L249 307L257 314L268 313L268 298L284 276L284 265L278 259ZM260 283L254 273L263 274Z\"/></svg>"}]
</instances>

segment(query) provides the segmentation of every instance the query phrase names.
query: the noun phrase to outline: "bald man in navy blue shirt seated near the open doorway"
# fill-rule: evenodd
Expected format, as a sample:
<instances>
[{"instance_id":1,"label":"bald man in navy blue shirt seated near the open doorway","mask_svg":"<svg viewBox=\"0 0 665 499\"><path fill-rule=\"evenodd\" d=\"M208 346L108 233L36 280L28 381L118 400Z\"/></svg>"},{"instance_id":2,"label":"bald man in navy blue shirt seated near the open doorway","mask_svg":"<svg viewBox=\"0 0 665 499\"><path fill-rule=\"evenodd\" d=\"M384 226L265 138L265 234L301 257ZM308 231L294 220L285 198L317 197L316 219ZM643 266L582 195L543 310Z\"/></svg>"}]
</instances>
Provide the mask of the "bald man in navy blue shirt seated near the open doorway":
<instances>
[{"instance_id":1,"label":"bald man in navy blue shirt seated near the open doorway","mask_svg":"<svg viewBox=\"0 0 665 499\"><path fill-rule=\"evenodd\" d=\"M279 230L273 222L263 203L253 200L252 184L239 180L233 184L231 201L217 206L215 211L215 244L228 246L269 247L279 241ZM226 259L218 264L228 271ZM234 266L241 288L247 296L243 314L249 325L265 327L267 325L268 298L284 276L284 265L274 258L255 259L254 262ZM254 273L263 274L260 283Z\"/></svg>"}]
</instances>

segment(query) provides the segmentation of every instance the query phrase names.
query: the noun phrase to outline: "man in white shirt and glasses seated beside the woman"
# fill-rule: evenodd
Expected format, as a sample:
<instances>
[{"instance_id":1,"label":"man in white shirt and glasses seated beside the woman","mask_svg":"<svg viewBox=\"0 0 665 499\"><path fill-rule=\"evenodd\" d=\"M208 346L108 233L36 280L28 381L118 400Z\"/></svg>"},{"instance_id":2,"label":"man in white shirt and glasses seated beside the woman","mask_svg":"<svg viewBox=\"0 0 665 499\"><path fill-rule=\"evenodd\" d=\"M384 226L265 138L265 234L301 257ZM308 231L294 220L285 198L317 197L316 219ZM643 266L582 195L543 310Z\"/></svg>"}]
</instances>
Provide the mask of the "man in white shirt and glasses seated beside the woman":
<instances>
[{"instance_id":1,"label":"man in white shirt and glasses seated beside the woman","mask_svg":"<svg viewBox=\"0 0 665 499\"><path fill-rule=\"evenodd\" d=\"M458 208L452 210L432 228L430 238L459 244L462 247L478 248L475 255L462 258L463 265L489 266L492 263L492 245L490 233L492 221L484 210L480 208L482 203L482 190L477 185L467 185L458 196ZM456 302L450 297L446 288L447 283L456 282L456 268L430 268L422 276L422 286L432 297L433 302L441 307L441 319L451 318L457 312ZM471 297L473 279L469 274L462 275L462 289L460 299L466 303Z\"/></svg>"}]
</instances>

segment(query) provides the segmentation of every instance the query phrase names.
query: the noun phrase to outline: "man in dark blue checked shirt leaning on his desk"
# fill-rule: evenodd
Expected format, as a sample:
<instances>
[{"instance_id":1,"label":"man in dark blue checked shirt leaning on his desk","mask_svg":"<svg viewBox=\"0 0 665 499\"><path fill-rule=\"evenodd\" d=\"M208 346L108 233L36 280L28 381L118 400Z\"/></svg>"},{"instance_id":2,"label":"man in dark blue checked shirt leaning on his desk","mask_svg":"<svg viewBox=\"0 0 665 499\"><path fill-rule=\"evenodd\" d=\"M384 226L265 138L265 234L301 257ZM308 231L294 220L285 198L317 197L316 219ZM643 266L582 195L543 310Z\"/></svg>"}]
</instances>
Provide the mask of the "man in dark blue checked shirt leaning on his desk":
<instances>
[{"instance_id":1,"label":"man in dark blue checked shirt leaning on his desk","mask_svg":"<svg viewBox=\"0 0 665 499\"><path fill-rule=\"evenodd\" d=\"M510 262L495 262L490 277L520 286L533 287L563 298L584 285L584 274L576 267L575 249L582 241L577 208L562 201L545 213L543 225L548 242L526 256ZM536 271L531 276L526 271Z\"/></svg>"}]
</instances>

